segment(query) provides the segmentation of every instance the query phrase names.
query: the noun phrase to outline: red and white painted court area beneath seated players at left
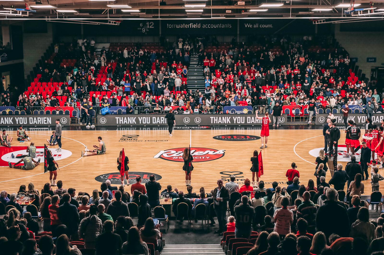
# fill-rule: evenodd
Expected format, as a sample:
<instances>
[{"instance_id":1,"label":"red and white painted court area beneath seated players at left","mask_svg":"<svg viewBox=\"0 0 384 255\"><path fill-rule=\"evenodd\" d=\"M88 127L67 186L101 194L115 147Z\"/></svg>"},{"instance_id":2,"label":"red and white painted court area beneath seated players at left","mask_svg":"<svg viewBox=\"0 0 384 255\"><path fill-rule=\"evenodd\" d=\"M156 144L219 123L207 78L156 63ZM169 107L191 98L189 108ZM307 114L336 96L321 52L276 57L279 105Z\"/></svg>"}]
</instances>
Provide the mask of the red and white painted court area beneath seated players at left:
<instances>
[{"instance_id":1,"label":"red and white painted court area beneath seated players at left","mask_svg":"<svg viewBox=\"0 0 384 255\"><path fill-rule=\"evenodd\" d=\"M26 152L27 146L14 146L11 148L8 147L0 147L0 153L2 154L1 160L0 160L0 166L1 167L7 167L8 162L16 163L19 162L20 159L17 159L17 156L22 155L28 155L28 152ZM61 152L57 152L55 148L48 148L50 150L53 158L55 161L66 159L72 155L72 152L69 150L61 149ZM13 159L11 155L14 155L15 158ZM36 146L36 157L34 160L41 159L41 162L44 162L44 146ZM22 163L21 163L22 164Z\"/></svg>"}]
</instances>

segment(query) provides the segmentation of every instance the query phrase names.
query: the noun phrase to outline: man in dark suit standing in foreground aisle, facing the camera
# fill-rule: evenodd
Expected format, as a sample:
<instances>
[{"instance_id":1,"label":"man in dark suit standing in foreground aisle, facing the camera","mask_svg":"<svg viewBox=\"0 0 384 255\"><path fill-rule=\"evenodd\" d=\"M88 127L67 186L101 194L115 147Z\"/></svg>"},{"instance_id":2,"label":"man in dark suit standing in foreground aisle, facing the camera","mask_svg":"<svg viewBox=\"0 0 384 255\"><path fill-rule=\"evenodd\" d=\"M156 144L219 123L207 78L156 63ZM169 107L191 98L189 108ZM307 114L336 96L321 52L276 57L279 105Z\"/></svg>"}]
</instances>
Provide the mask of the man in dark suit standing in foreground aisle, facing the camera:
<instances>
[{"instance_id":1,"label":"man in dark suit standing in foreground aisle, facing the camera","mask_svg":"<svg viewBox=\"0 0 384 255\"><path fill-rule=\"evenodd\" d=\"M229 191L223 186L223 180L217 180L217 188L214 190L214 209L218 221L218 230L215 233L222 235L225 231L225 216L227 214L227 201L229 201Z\"/></svg>"}]
</instances>

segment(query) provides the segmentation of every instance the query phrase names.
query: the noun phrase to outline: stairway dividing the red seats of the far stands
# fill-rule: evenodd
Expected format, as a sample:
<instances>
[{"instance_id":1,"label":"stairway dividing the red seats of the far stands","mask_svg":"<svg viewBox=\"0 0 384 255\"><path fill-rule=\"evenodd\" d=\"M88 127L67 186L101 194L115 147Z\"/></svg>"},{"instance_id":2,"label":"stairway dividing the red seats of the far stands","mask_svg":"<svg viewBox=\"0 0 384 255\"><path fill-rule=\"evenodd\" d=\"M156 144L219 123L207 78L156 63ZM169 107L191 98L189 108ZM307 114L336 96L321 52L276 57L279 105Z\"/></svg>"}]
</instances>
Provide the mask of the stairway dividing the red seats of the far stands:
<instances>
[{"instance_id":1,"label":"stairway dividing the red seats of the far stands","mask_svg":"<svg viewBox=\"0 0 384 255\"><path fill-rule=\"evenodd\" d=\"M188 77L187 77L187 87L188 90L199 90L204 93L205 90L205 79L203 74L203 67L197 66L198 62L197 54L194 52L191 54L189 68L188 68Z\"/></svg>"}]
</instances>

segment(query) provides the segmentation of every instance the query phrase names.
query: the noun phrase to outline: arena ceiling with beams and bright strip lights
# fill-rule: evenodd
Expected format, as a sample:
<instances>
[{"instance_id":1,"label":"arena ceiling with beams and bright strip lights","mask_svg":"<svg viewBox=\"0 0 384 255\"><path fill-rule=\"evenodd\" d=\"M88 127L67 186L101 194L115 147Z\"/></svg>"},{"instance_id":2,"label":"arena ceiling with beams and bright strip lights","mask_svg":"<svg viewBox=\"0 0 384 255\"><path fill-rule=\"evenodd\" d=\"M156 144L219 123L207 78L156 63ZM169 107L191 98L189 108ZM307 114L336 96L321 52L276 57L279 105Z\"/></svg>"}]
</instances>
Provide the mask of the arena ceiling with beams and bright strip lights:
<instances>
[{"instance_id":1,"label":"arena ceiling with beams and bright strip lights","mask_svg":"<svg viewBox=\"0 0 384 255\"><path fill-rule=\"evenodd\" d=\"M95 19L111 23L124 19L196 18L377 20L384 15L384 0L0 0L0 4L0 19ZM28 5L32 11L22 10ZM354 11L348 12L352 6Z\"/></svg>"}]
</instances>

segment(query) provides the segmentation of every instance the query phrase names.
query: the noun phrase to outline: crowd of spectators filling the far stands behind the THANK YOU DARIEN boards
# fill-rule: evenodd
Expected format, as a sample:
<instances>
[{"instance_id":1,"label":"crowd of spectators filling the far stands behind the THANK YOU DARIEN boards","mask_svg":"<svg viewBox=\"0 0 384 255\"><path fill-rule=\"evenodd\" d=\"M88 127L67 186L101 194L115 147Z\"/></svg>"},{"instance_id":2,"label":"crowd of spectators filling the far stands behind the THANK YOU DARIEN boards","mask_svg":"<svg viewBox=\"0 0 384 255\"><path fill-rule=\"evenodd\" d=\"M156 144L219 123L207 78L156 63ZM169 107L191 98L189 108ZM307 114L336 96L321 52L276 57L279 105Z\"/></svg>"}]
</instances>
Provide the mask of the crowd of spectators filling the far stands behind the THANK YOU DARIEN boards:
<instances>
[{"instance_id":1,"label":"crowd of spectators filling the far stands behind the THANK YOU DARIEN boards","mask_svg":"<svg viewBox=\"0 0 384 255\"><path fill-rule=\"evenodd\" d=\"M376 87L350 70L348 52L329 38L260 37L252 42L218 44L212 38L182 37L164 47L103 48L100 59L94 46L93 39L56 44L56 57L37 70L37 80L62 85L47 96L21 93L19 105L59 106L55 97L67 96L61 106L78 107L89 92L108 92L104 96L92 93L95 96L89 101L93 106L179 106L199 113L214 112L221 106L268 110L276 102L280 106L308 105L311 98L317 108L366 106L371 101L373 111L379 111L384 105ZM192 54L197 54L204 72L205 89L201 91L187 86ZM2 105L16 105L7 92L2 95Z\"/></svg>"}]
</instances>

